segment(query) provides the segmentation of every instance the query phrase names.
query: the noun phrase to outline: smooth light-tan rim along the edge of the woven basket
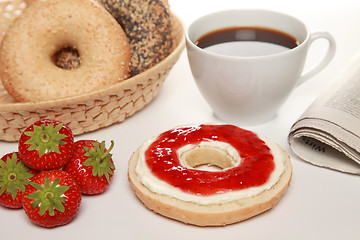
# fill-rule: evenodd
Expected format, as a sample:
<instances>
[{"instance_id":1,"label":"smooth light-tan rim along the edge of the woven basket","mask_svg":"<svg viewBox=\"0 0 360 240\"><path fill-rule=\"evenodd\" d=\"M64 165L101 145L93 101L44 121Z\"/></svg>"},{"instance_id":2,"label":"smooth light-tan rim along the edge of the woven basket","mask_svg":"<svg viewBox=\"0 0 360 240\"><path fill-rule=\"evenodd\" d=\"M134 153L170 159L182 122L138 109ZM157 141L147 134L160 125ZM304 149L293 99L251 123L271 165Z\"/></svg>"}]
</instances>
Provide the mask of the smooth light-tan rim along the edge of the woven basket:
<instances>
[{"instance_id":1,"label":"smooth light-tan rim along the edge of the woven basket","mask_svg":"<svg viewBox=\"0 0 360 240\"><path fill-rule=\"evenodd\" d=\"M56 100L47 100L40 102L25 102L25 103L0 103L0 112L16 112L16 111L31 111L31 110L42 110L49 108L56 108L58 106L65 106L70 104L83 103L89 100L97 99L110 95L111 93L117 92L121 89L131 89L132 86L144 82L144 80L149 79L153 74L159 72L159 70L165 68L169 64L174 64L178 56L185 48L185 25L183 21L174 13L171 13L173 21L177 21L181 27L181 36L177 46L173 51L161 62L153 66L152 68L133 76L125 81L119 82L117 84L111 85L106 88L102 88L90 93L75 95L67 98L56 99Z\"/></svg>"}]
</instances>

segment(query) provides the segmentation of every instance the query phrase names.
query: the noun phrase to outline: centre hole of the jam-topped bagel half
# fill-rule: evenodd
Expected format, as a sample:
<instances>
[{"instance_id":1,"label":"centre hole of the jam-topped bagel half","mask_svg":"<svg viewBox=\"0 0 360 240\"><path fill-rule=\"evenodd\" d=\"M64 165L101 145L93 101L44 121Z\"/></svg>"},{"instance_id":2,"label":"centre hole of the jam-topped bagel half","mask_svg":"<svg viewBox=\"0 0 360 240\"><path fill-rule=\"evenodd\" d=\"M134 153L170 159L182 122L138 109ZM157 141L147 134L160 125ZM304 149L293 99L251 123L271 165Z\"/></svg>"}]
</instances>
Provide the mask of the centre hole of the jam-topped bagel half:
<instances>
[{"instance_id":1,"label":"centre hole of the jam-topped bagel half","mask_svg":"<svg viewBox=\"0 0 360 240\"><path fill-rule=\"evenodd\" d=\"M213 147L189 149L180 159L185 167L204 171L222 171L236 165L236 160L226 151Z\"/></svg>"}]
</instances>

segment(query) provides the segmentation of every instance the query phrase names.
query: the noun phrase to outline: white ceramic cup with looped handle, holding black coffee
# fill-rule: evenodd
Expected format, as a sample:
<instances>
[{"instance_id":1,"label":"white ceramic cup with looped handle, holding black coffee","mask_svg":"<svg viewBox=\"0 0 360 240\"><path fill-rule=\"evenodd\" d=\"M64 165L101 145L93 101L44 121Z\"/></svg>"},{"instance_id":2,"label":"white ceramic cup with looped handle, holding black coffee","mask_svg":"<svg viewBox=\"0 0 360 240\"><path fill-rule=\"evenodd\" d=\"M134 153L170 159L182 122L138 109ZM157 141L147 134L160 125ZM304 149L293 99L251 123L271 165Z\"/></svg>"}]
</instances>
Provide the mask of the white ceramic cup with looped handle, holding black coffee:
<instances>
[{"instance_id":1,"label":"white ceramic cup with looped handle, holding black coffee","mask_svg":"<svg viewBox=\"0 0 360 240\"><path fill-rule=\"evenodd\" d=\"M196 45L205 34L229 27L274 29L296 38L298 46L280 53L260 50L247 56L232 56L232 48L230 54L224 54ZM328 41L327 53L303 73L309 46L316 39ZM328 32L310 32L303 22L287 14L235 9L195 20L186 32L186 48L195 82L215 116L224 122L251 126L274 118L292 90L331 61L336 47ZM245 49L251 50L251 46Z\"/></svg>"}]
</instances>

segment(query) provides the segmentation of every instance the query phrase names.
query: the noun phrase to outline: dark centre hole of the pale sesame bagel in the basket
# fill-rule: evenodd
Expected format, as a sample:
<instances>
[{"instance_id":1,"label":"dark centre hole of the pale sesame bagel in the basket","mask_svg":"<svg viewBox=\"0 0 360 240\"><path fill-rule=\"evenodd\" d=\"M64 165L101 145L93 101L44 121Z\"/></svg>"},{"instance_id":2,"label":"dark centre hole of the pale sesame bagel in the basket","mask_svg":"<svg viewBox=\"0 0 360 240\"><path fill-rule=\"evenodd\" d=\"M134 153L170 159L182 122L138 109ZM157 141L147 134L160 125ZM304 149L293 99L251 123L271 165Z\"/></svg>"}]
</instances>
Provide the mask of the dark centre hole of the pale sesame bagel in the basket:
<instances>
[{"instance_id":1,"label":"dark centre hole of the pale sesame bagel in the basket","mask_svg":"<svg viewBox=\"0 0 360 240\"><path fill-rule=\"evenodd\" d=\"M52 56L52 61L57 67L65 70L76 69L81 65L80 54L73 47L61 48Z\"/></svg>"}]
</instances>

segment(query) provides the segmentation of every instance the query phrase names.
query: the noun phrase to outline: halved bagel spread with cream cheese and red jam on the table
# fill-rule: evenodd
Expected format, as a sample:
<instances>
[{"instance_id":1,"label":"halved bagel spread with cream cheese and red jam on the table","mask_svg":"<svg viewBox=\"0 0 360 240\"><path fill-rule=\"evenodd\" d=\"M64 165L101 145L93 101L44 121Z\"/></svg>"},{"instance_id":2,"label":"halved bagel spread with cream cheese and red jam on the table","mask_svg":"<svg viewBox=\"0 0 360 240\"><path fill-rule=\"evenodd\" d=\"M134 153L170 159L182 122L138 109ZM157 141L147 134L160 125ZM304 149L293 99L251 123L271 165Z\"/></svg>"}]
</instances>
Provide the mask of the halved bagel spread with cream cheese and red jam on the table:
<instances>
[{"instance_id":1,"label":"halved bagel spread with cream cheese and red jam on the table","mask_svg":"<svg viewBox=\"0 0 360 240\"><path fill-rule=\"evenodd\" d=\"M204 164L220 170L197 168ZM278 144L232 125L171 129L145 141L128 165L147 208L196 226L224 226L271 209L291 176L290 157Z\"/></svg>"}]
</instances>

